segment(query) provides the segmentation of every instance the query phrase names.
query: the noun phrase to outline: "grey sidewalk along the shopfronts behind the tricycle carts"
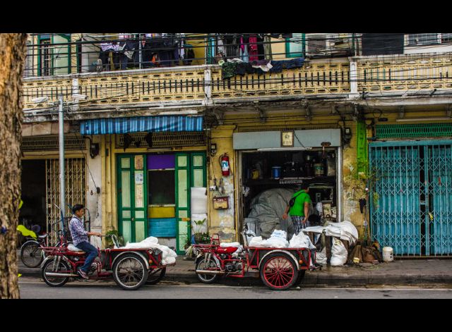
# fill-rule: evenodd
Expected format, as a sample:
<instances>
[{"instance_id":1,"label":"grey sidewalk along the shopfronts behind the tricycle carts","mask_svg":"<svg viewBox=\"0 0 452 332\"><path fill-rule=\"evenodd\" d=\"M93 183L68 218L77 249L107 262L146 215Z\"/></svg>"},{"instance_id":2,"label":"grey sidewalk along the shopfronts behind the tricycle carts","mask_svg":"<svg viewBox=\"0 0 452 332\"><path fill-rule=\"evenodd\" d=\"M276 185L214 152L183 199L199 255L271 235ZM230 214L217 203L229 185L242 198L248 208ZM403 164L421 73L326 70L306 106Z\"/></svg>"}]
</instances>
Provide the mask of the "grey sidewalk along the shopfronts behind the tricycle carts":
<instances>
[{"instance_id":1,"label":"grey sidewalk along the shopfronts behind the tricycle carts","mask_svg":"<svg viewBox=\"0 0 452 332\"><path fill-rule=\"evenodd\" d=\"M40 269L30 269L19 258L18 269L25 277L40 278ZM177 257L175 266L168 266L163 280L198 283L194 261ZM251 271L251 270L250 270ZM256 271L246 278L222 278L219 283L261 283ZM307 271L304 285L407 285L452 284L452 259L396 259L390 263L358 266L323 266L321 271Z\"/></svg>"}]
</instances>

